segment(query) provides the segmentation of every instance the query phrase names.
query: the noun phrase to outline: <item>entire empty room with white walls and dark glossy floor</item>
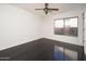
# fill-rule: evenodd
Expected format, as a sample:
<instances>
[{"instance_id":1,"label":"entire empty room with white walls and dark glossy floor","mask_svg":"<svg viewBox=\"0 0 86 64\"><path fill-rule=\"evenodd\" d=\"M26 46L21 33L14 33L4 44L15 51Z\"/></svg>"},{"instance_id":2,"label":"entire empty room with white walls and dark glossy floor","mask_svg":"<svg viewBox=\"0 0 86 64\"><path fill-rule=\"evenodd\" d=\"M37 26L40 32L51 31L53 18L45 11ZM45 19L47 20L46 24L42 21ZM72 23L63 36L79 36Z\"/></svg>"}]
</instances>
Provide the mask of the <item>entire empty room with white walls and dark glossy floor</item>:
<instances>
[{"instance_id":1,"label":"entire empty room with white walls and dark glossy floor","mask_svg":"<svg viewBox=\"0 0 86 64\"><path fill-rule=\"evenodd\" d=\"M86 3L0 3L0 61L85 61Z\"/></svg>"}]
</instances>

